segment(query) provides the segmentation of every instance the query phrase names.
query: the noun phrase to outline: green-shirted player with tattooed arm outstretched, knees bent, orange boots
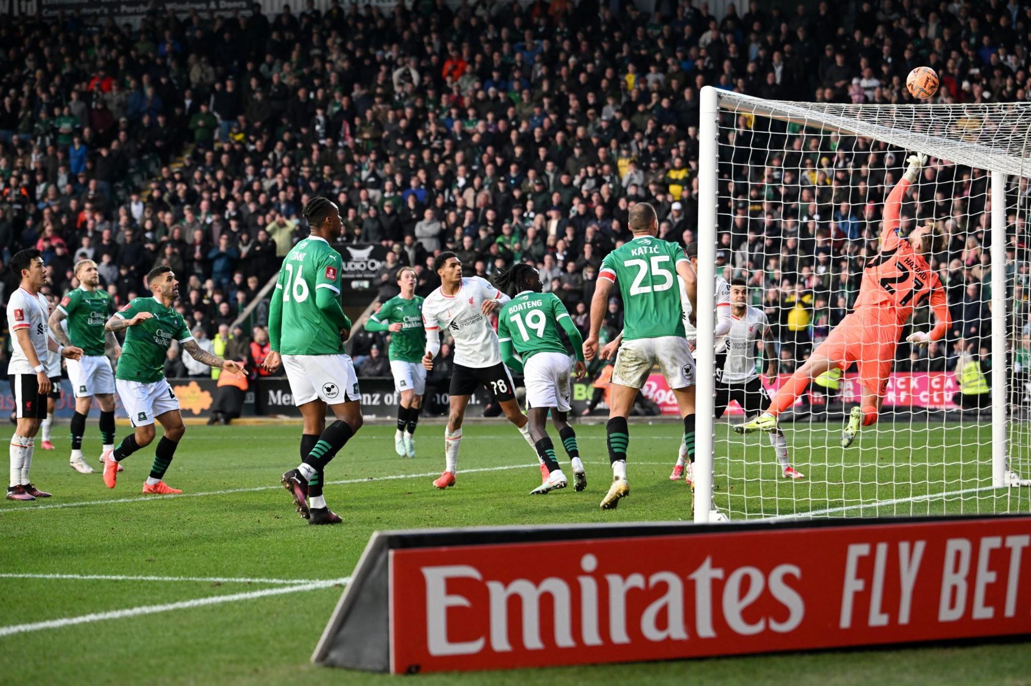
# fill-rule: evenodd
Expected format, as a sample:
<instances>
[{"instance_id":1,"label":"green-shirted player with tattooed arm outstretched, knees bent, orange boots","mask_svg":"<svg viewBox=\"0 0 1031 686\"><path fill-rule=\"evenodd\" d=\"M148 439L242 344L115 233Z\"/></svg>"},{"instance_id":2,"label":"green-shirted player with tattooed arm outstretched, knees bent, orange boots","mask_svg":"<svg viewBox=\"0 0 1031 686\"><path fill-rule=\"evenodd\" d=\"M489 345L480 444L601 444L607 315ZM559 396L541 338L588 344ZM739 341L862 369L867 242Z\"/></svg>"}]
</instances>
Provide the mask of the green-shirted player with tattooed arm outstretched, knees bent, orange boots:
<instances>
[{"instance_id":1,"label":"green-shirted player with tattooed arm outstretched, knees bent, orange boots","mask_svg":"<svg viewBox=\"0 0 1031 686\"><path fill-rule=\"evenodd\" d=\"M135 432L122 439L122 443L104 453L104 485L113 488L118 482L119 462L154 441L154 422L157 420L165 435L154 451L154 466L151 476L143 483L143 492L181 493L181 490L169 487L162 480L187 431L179 415L179 401L165 379L168 347L172 341L178 341L194 359L208 367L218 367L232 374L243 374L245 370L237 362L202 350L194 340L186 319L172 308L172 303L179 297L179 282L171 268L155 267L146 275L146 283L154 298L132 300L104 325L111 333L126 332L114 385L129 414L129 421L135 427Z\"/></svg>"}]
</instances>

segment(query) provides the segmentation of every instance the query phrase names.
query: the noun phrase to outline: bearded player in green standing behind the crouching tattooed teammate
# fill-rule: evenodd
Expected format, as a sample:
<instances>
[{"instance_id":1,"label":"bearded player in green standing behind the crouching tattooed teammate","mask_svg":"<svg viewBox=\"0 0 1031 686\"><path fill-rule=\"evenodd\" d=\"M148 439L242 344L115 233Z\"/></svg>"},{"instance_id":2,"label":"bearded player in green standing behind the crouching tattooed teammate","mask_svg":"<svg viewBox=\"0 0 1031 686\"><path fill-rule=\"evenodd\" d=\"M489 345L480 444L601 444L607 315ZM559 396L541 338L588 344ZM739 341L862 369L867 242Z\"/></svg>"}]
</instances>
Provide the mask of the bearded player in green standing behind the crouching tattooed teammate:
<instances>
[{"instance_id":1,"label":"bearded player in green standing behind the crouching tattooed teammate","mask_svg":"<svg viewBox=\"0 0 1031 686\"><path fill-rule=\"evenodd\" d=\"M100 407L100 436L104 453L114 447L114 372L107 352L113 359L122 354L122 346L114 334L104 324L111 315L113 300L100 287L97 263L80 260L75 263L78 287L69 290L61 304L51 313L47 323L54 337L62 345L75 345L85 351L79 361L68 361L68 380L75 397L75 414L71 418L71 468L80 474L93 474L93 468L82 459L82 435L86 417L93 400ZM67 319L68 331L62 324ZM121 467L121 465L120 465Z\"/></svg>"}]
</instances>

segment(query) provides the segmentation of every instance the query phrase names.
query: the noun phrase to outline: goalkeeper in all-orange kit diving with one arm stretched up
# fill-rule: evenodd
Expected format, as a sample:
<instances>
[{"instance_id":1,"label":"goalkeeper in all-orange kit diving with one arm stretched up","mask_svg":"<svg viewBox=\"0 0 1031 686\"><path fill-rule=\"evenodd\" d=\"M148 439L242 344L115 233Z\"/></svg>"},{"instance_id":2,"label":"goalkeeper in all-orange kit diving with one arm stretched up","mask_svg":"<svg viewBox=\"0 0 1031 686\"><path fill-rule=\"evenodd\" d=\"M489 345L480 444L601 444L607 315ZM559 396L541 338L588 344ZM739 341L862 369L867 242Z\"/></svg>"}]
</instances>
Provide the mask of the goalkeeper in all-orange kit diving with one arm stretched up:
<instances>
[{"instance_id":1,"label":"goalkeeper in all-orange kit diving with one arm stretched up","mask_svg":"<svg viewBox=\"0 0 1031 686\"><path fill-rule=\"evenodd\" d=\"M880 252L863 271L863 283L853 311L780 387L769 410L752 421L738 424L734 427L736 432L773 431L777 415L795 403L812 379L828 370L845 370L856 363L863 397L860 407L853 408L841 435L841 447L846 448L856 439L860 425L868 426L877 420L888 375L895 362L895 348L913 308L930 298L937 324L930 334L911 334L906 338L909 343L924 347L941 339L949 331L951 321L945 291L926 258L944 248L944 232L929 222L913 229L905 238L899 235L902 199L917 180L925 160L923 155L911 156L908 169L888 196Z\"/></svg>"}]
</instances>

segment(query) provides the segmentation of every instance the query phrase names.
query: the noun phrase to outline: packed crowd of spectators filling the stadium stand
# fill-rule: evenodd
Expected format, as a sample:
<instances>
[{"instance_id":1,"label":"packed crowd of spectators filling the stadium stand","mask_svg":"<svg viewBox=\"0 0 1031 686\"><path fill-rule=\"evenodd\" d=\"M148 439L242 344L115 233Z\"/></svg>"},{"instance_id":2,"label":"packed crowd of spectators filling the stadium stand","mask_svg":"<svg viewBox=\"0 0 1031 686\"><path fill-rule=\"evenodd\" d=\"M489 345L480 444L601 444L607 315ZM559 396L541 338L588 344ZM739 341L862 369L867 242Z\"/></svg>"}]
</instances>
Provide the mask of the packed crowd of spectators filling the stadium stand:
<instances>
[{"instance_id":1,"label":"packed crowd of spectators filling the stadium stand","mask_svg":"<svg viewBox=\"0 0 1031 686\"><path fill-rule=\"evenodd\" d=\"M202 347L232 347L254 369L267 334L230 328L307 234L305 201L324 195L340 206L345 242L389 249L380 300L396 295L405 265L417 293L430 293L428 265L452 249L466 275L532 262L586 329L601 260L629 238L630 205L657 207L662 238L698 238L702 85L887 104L910 101L905 75L928 65L937 102L1029 99L1031 5L1017 0L863 1L846 14L831 2L785 12L753 1L721 18L699 4L664 0L648 14L597 0L389 11L307 0L274 16L257 4L230 16L151 14L138 28L76 14L5 21L3 264L39 247L60 293L76 285L74 262L91 258L119 304L168 264ZM740 126L736 149L750 157L721 160L718 265L755 286L790 372L855 299L886 178L904 158L811 130ZM956 323L945 345L900 346L899 369L944 369L988 345L987 177L940 163L925 174L907 212L946 224L932 267ZM1011 206L1026 191L1011 188ZM1010 247L1023 245L1021 233ZM1024 283L1027 269L1012 276ZM5 294L16 287L6 266L0 280ZM1011 294L1022 311L1027 293ZM617 300L609 313L619 330ZM354 339L360 375L386 374L383 335ZM172 352L167 367L208 373L191 363ZM445 353L434 375L446 365Z\"/></svg>"}]
</instances>

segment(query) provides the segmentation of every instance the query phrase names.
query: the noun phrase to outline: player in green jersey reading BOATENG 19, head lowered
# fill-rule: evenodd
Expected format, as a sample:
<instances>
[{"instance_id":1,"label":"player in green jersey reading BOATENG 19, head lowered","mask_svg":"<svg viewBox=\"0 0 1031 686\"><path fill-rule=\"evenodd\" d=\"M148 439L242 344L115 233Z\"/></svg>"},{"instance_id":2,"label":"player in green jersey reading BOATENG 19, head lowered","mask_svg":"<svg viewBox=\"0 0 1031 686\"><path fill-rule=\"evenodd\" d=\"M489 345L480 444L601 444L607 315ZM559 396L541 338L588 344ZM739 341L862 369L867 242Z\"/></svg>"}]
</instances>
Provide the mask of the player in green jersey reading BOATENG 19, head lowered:
<instances>
[{"instance_id":1,"label":"player in green jersey reading BOATENG 19, head lowered","mask_svg":"<svg viewBox=\"0 0 1031 686\"><path fill-rule=\"evenodd\" d=\"M496 285L512 296L498 314L498 343L501 358L508 369L523 372L526 383L527 418L530 438L547 471L543 483L530 494L546 493L566 487L566 477L555 458L555 446L544 428L547 413L559 431L562 444L573 468L573 488L587 488L587 473L576 447L576 433L567 421L569 410L569 355L559 338L559 327L566 332L576 354L576 379L584 378L584 339L573 324L566 306L553 293L541 293L540 274L530 265L513 265L502 272ZM512 295L512 294L516 295Z\"/></svg>"}]
</instances>

